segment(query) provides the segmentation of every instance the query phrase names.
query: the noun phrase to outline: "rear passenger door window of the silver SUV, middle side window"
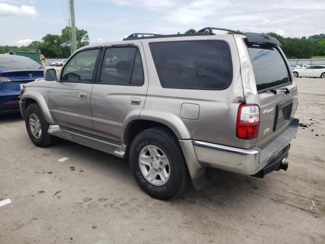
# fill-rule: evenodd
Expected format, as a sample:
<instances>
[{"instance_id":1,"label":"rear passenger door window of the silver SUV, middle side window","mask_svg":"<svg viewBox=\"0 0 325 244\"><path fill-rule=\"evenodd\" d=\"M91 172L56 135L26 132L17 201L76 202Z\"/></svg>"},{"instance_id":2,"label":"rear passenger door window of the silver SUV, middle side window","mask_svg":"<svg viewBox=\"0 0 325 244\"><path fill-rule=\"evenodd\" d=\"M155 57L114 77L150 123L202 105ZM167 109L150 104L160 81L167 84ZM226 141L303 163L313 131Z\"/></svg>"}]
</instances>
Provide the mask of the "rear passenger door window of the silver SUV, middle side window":
<instances>
[{"instance_id":1,"label":"rear passenger door window of the silver SUV, middle side window","mask_svg":"<svg viewBox=\"0 0 325 244\"><path fill-rule=\"evenodd\" d=\"M144 83L141 55L136 47L107 48L99 83L142 85Z\"/></svg>"}]
</instances>

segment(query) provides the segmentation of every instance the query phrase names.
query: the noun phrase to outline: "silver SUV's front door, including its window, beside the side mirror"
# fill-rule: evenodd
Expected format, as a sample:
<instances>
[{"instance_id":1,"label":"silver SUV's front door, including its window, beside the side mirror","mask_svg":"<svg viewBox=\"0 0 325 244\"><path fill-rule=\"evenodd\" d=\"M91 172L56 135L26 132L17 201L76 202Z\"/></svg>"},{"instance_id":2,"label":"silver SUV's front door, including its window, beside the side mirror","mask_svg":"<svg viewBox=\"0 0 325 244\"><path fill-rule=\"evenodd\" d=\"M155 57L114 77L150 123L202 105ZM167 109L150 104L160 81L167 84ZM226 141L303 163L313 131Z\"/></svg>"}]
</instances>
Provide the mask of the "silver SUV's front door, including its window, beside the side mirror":
<instances>
[{"instance_id":1,"label":"silver SUV's front door, including its window, beside the side mirror","mask_svg":"<svg viewBox=\"0 0 325 244\"><path fill-rule=\"evenodd\" d=\"M49 89L49 109L59 125L92 130L90 95L100 48L74 54L63 67L60 79Z\"/></svg>"}]
</instances>

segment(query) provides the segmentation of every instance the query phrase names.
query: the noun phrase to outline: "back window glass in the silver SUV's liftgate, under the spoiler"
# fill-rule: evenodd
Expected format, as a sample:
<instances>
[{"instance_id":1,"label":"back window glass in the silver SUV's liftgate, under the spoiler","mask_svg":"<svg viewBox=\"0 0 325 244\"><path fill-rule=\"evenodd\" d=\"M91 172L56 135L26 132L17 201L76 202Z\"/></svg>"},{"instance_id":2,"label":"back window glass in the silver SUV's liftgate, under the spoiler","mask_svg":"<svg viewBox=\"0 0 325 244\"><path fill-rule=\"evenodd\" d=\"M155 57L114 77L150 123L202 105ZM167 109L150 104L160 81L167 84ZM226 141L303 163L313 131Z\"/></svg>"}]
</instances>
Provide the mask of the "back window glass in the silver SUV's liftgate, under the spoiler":
<instances>
[{"instance_id":1,"label":"back window glass in the silver SUV's liftgate, under the spoiler","mask_svg":"<svg viewBox=\"0 0 325 244\"><path fill-rule=\"evenodd\" d=\"M257 90L264 90L290 81L283 57L275 47L248 44Z\"/></svg>"}]
</instances>

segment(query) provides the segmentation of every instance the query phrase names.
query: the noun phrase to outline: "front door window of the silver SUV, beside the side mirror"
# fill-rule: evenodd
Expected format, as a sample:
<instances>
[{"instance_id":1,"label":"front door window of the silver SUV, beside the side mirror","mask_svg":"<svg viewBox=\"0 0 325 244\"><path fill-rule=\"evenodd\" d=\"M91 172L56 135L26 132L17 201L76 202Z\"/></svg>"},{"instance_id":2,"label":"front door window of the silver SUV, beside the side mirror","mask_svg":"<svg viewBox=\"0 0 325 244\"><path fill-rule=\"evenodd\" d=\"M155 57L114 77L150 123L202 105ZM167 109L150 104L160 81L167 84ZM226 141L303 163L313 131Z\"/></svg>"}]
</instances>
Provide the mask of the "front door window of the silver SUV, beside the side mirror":
<instances>
[{"instance_id":1,"label":"front door window of the silver SUV, beside the side mirror","mask_svg":"<svg viewBox=\"0 0 325 244\"><path fill-rule=\"evenodd\" d=\"M62 72L62 81L91 82L99 49L84 50L71 58Z\"/></svg>"}]
</instances>

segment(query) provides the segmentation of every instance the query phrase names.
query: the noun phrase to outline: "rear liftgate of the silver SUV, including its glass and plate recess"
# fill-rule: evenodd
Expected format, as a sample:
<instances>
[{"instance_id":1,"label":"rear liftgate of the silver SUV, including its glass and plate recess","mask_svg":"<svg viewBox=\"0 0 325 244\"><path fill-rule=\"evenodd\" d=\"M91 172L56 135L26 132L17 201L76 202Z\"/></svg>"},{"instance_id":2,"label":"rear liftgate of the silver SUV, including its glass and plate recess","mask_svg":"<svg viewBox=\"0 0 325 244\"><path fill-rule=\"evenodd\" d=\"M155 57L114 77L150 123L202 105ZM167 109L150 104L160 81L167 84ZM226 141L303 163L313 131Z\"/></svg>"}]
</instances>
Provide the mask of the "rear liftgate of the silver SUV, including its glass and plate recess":
<instances>
[{"instance_id":1,"label":"rear liftgate of the silver SUV, including its glass and plate recess","mask_svg":"<svg viewBox=\"0 0 325 244\"><path fill-rule=\"evenodd\" d=\"M248 44L259 95L260 124L256 146L282 133L294 118L298 103L296 84L279 47Z\"/></svg>"}]
</instances>

